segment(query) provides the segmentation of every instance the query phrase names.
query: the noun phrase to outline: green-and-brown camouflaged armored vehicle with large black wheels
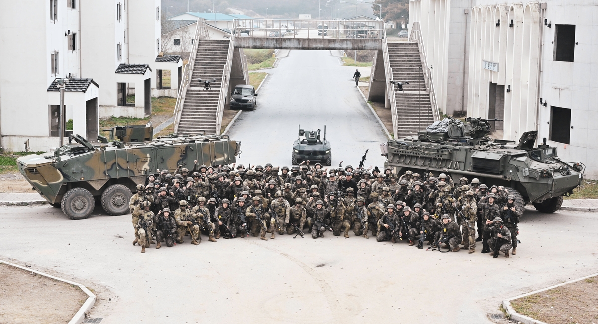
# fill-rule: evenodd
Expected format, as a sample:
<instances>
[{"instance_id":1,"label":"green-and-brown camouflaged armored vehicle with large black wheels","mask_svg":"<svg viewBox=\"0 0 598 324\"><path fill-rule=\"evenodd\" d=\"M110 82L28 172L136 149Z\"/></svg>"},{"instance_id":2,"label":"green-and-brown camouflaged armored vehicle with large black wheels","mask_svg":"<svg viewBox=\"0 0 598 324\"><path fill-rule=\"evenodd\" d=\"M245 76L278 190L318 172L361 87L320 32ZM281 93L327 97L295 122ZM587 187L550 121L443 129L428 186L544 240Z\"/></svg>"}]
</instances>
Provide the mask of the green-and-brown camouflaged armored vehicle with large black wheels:
<instances>
[{"instance_id":1,"label":"green-and-brown camouflaged armored vehicle with large black wheels","mask_svg":"<svg viewBox=\"0 0 598 324\"><path fill-rule=\"evenodd\" d=\"M87 218L96 199L109 215L124 215L132 191L149 174L175 172L179 166L193 169L194 160L206 166L231 164L241 145L219 135L171 135L139 143L98 138L100 143L91 143L71 135L68 144L53 152L18 158L19 171L71 219Z\"/></svg>"}]
</instances>

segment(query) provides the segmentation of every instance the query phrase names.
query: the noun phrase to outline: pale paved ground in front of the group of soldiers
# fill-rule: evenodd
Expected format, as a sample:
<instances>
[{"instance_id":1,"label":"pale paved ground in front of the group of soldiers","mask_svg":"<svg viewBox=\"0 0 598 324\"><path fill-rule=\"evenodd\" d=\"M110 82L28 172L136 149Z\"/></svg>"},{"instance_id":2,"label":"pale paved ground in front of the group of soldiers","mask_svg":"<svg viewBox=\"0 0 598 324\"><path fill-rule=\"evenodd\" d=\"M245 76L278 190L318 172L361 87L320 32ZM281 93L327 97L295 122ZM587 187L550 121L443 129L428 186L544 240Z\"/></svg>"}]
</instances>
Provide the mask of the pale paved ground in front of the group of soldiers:
<instances>
[{"instance_id":1,"label":"pale paved ground in front of the group of soldiers","mask_svg":"<svg viewBox=\"0 0 598 324\"><path fill-rule=\"evenodd\" d=\"M1 257L108 286L117 298L91 313L102 323L489 323L502 299L598 269L598 216L590 213L526 210L523 243L509 259L330 233L199 246L187 239L141 254L128 215L69 221L41 205L0 207L0 219Z\"/></svg>"}]
</instances>

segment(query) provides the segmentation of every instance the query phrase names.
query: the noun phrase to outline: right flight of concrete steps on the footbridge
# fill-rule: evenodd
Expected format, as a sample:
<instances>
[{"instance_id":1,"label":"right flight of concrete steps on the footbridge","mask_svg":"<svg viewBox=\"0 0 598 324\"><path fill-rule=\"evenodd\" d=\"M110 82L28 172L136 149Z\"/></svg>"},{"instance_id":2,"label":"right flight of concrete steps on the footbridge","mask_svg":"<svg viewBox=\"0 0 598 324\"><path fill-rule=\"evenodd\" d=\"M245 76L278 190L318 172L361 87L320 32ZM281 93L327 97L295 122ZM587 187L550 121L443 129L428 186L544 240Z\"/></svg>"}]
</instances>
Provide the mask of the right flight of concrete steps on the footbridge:
<instances>
[{"instance_id":1,"label":"right flight of concrete steps on the footbridge","mask_svg":"<svg viewBox=\"0 0 598 324\"><path fill-rule=\"evenodd\" d=\"M422 72L422 61L417 43L389 42L388 56L392 79L408 81L405 92L395 92L397 133L395 138L416 135L434 123L430 95Z\"/></svg>"}]
</instances>

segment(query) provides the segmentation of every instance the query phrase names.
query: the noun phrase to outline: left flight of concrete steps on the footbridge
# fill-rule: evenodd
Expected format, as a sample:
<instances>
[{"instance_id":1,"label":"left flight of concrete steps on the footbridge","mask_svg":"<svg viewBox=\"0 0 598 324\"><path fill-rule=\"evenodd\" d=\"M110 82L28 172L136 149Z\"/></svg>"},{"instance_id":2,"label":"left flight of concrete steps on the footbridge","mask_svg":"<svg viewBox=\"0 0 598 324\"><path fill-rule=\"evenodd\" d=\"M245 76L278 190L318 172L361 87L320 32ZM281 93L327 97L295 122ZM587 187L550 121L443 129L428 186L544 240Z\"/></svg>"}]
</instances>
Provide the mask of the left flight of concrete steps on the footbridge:
<instances>
[{"instance_id":1,"label":"left flight of concrete steps on the footbridge","mask_svg":"<svg viewBox=\"0 0 598 324\"><path fill-rule=\"evenodd\" d=\"M190 87L185 93L181 112L179 133L218 134L216 111L222 85L222 70L227 62L228 40L200 39L197 42L197 55L191 75ZM212 82L212 90L203 90L204 82L198 80L218 79ZM227 91L225 89L224 91Z\"/></svg>"}]
</instances>

